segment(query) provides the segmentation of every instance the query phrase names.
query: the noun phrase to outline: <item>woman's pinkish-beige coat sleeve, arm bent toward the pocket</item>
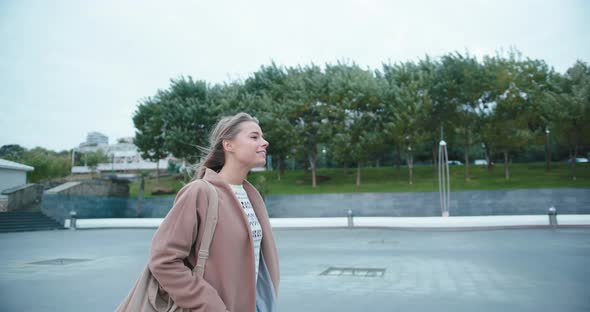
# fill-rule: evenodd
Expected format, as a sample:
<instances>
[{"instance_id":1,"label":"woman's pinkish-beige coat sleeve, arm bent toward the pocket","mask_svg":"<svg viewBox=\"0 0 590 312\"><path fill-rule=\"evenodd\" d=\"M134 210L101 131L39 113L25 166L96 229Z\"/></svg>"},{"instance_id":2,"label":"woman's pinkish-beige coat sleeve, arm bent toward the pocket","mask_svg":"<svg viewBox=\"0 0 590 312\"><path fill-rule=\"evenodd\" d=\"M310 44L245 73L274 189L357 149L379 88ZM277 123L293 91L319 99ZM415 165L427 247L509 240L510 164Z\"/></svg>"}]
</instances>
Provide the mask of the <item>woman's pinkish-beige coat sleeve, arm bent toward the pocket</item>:
<instances>
[{"instance_id":1,"label":"woman's pinkish-beige coat sleeve, arm bent toward the pocket","mask_svg":"<svg viewBox=\"0 0 590 312\"><path fill-rule=\"evenodd\" d=\"M217 290L193 275L183 260L188 257L197 229L197 200L207 205L207 193L198 183L181 189L172 209L152 239L149 267L161 287L179 307L194 311L226 311Z\"/></svg>"}]
</instances>

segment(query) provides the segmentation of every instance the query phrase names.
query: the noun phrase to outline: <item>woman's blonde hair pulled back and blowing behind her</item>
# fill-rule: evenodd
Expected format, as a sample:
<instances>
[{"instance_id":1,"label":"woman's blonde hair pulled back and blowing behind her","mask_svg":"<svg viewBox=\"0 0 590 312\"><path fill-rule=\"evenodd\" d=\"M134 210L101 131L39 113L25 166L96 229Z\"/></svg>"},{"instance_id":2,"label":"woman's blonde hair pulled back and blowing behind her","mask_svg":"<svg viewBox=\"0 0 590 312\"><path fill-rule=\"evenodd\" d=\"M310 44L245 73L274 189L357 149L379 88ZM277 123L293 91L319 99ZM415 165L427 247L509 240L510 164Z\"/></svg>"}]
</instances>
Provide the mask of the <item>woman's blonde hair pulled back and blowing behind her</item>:
<instances>
[{"instance_id":1,"label":"woman's blonde hair pulled back and blowing behind her","mask_svg":"<svg viewBox=\"0 0 590 312\"><path fill-rule=\"evenodd\" d=\"M217 122L209 137L209 147L202 148L206 156L197 165L195 179L202 178L207 168L215 172L219 172L223 168L225 165L223 140L232 140L235 138L241 130L240 125L248 121L258 123L258 119L243 112L233 116L223 117Z\"/></svg>"}]
</instances>

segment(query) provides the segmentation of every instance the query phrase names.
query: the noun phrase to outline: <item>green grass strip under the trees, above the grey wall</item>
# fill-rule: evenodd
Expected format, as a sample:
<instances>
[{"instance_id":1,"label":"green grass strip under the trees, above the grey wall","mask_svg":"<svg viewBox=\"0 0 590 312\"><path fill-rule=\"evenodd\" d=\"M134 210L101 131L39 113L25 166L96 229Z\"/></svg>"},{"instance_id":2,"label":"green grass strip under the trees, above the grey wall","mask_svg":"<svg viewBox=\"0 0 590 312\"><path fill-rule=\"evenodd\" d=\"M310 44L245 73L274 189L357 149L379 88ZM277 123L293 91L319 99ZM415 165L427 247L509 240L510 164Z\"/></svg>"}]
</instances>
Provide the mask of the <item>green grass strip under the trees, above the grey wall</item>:
<instances>
[{"instance_id":1,"label":"green grass strip under the trees, above the grey wall","mask_svg":"<svg viewBox=\"0 0 590 312\"><path fill-rule=\"evenodd\" d=\"M590 163L576 164L577 180L571 179L571 170L566 163L553 163L551 171L545 171L545 163L512 164L510 180L504 179L504 166L496 164L490 171L485 166L469 166L471 180L465 181L465 166L451 166L451 191L531 189L577 187L590 188ZM281 181L277 172L253 172L248 180L268 195L273 194L319 194L353 192L433 192L438 191L438 178L432 166L414 168L414 183L408 183L408 168L364 168L361 171L361 186L356 187L356 168L344 170L318 169L319 182L311 187L311 173L303 170L287 170ZM265 180L261 186L260 180ZM160 178L160 187L178 191L182 180L172 176ZM156 186L156 179L146 180L146 197ZM130 185L130 196L137 197L139 182Z\"/></svg>"}]
</instances>

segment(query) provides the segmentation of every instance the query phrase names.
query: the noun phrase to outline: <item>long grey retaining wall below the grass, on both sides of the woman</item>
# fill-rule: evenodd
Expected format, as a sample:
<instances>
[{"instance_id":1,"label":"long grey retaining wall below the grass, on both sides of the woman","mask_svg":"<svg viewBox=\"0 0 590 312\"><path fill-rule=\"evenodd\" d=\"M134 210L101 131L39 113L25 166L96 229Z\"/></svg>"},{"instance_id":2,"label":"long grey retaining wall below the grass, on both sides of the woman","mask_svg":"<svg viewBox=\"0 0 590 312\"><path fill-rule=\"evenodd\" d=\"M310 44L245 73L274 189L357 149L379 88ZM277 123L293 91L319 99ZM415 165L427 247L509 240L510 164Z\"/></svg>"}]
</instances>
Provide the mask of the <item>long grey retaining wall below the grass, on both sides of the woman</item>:
<instances>
[{"instance_id":1,"label":"long grey retaining wall below the grass, on both sides of the woman","mask_svg":"<svg viewBox=\"0 0 590 312\"><path fill-rule=\"evenodd\" d=\"M43 196L45 214L63 222L70 211L78 218L162 218L174 202L173 196L138 200L115 197ZM266 198L270 217L355 216L421 217L440 216L437 192L346 193L271 195ZM540 215L554 206L558 214L590 214L590 189L527 189L451 192L451 216Z\"/></svg>"}]
</instances>

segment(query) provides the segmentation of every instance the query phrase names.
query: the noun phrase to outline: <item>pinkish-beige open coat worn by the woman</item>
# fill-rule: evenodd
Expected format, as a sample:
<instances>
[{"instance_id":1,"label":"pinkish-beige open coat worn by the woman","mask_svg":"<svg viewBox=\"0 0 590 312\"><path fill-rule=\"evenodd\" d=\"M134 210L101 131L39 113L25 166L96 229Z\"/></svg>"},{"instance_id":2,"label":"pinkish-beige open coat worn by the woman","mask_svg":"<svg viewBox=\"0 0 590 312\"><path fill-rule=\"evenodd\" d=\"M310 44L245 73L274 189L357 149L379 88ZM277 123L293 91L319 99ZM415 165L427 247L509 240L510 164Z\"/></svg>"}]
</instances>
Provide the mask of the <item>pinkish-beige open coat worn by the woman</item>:
<instances>
[{"instance_id":1,"label":"pinkish-beige open coat worn by the woman","mask_svg":"<svg viewBox=\"0 0 590 312\"><path fill-rule=\"evenodd\" d=\"M178 192L174 206L156 231L151 245L150 270L180 307L194 311L254 312L255 260L247 217L230 186L217 173L207 169L203 179L216 188L219 196L219 219L204 277L193 276L183 264L187 257L193 266L197 262L203 235L201 224L207 213L207 188L194 182ZM247 181L244 189L262 226L263 261L274 293L278 294L279 258L266 206L258 191ZM197 246L191 246L195 222Z\"/></svg>"}]
</instances>

